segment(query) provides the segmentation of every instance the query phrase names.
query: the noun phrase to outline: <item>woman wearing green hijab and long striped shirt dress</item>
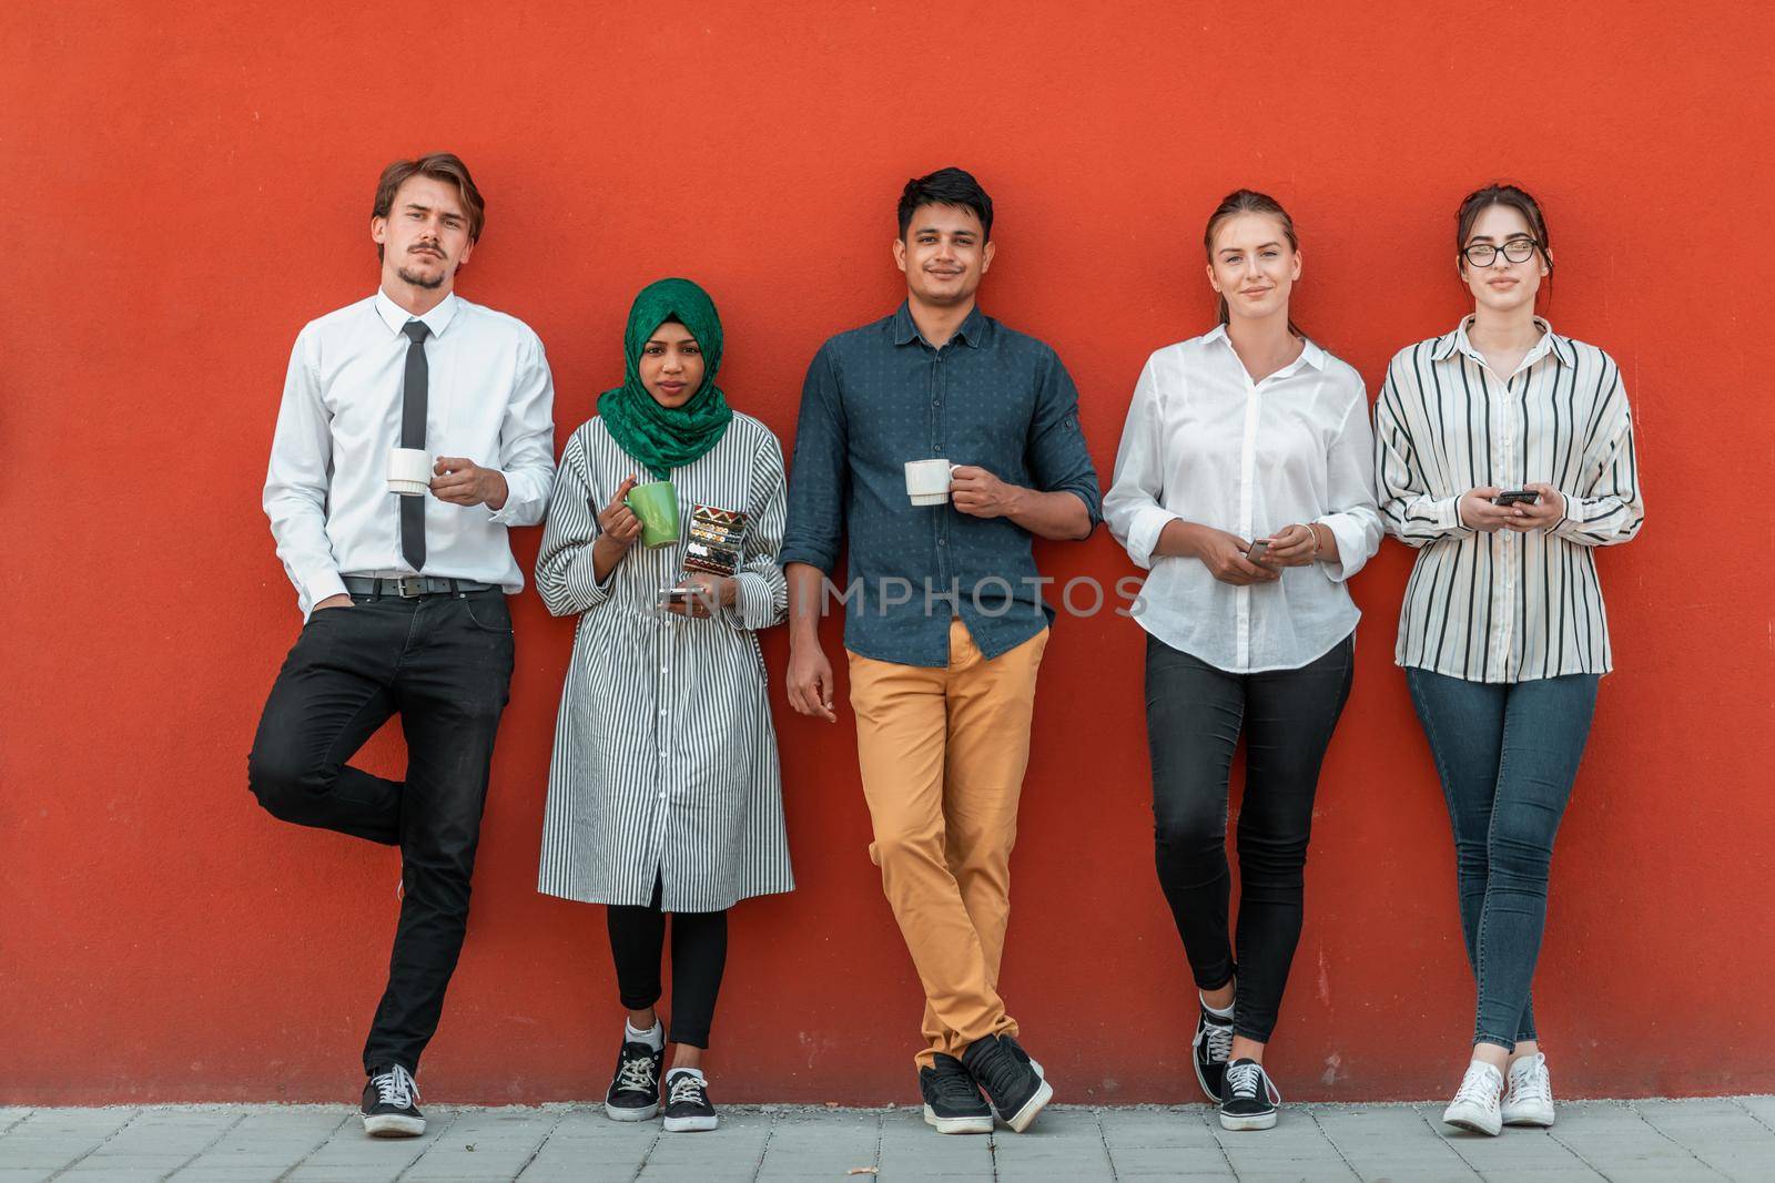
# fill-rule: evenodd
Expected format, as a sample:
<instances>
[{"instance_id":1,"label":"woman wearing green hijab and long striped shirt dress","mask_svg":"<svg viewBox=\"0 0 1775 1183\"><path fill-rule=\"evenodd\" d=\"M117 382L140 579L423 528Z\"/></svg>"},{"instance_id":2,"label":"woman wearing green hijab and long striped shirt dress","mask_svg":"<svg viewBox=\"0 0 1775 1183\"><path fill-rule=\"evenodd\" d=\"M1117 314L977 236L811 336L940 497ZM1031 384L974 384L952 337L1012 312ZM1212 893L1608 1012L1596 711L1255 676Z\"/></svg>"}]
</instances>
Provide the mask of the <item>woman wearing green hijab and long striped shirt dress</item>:
<instances>
[{"instance_id":1,"label":"woman wearing green hijab and long striped shirt dress","mask_svg":"<svg viewBox=\"0 0 1775 1183\"><path fill-rule=\"evenodd\" d=\"M618 1121L660 1109L666 1032L653 1004L671 917L671 1132L715 1128L701 1057L728 908L793 887L756 639L786 610L783 449L728 406L721 344L696 284L666 278L635 296L623 385L568 440L536 559L548 610L579 617L538 887L605 905L628 1011L605 1096ZM648 548L627 502L659 481L676 491L680 541ZM685 584L694 598L660 607L664 589Z\"/></svg>"}]
</instances>

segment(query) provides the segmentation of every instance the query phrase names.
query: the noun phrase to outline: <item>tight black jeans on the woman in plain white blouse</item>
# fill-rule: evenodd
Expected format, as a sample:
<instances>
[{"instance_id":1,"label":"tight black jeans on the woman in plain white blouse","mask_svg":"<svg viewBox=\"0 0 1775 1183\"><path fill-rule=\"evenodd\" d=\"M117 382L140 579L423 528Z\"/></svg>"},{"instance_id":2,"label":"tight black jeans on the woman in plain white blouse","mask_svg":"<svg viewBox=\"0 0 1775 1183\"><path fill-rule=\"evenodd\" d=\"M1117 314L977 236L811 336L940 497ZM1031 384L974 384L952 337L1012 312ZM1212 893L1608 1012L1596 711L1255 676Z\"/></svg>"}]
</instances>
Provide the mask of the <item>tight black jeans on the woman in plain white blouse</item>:
<instances>
[{"instance_id":1,"label":"tight black jeans on the woman in plain white blouse","mask_svg":"<svg viewBox=\"0 0 1775 1183\"><path fill-rule=\"evenodd\" d=\"M1269 1043L1301 938L1319 764L1354 674L1351 633L1292 670L1228 674L1147 637L1147 743L1159 885L1196 986L1234 977L1227 789L1244 731L1234 1032Z\"/></svg>"}]
</instances>

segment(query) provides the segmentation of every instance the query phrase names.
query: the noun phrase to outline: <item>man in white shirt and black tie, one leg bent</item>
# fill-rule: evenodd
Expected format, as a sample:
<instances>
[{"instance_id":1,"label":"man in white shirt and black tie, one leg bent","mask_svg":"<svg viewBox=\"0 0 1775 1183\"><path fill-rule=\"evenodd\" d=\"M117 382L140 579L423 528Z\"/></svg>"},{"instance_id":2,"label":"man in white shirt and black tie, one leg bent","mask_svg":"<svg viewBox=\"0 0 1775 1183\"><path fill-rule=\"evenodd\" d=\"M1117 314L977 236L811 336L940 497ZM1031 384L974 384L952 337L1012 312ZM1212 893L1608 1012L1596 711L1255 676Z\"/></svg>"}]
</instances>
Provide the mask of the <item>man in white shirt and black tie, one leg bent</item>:
<instances>
[{"instance_id":1,"label":"man in white shirt and black tie, one leg bent","mask_svg":"<svg viewBox=\"0 0 1775 1183\"><path fill-rule=\"evenodd\" d=\"M511 685L506 530L543 520L554 385L520 321L454 294L485 206L438 153L389 165L382 286L296 337L264 479L305 624L259 718L248 784L277 818L401 848L401 921L364 1046L364 1128L424 1132L414 1073L462 952L493 736ZM396 447L430 491L390 491ZM406 777L346 761L399 713Z\"/></svg>"}]
</instances>

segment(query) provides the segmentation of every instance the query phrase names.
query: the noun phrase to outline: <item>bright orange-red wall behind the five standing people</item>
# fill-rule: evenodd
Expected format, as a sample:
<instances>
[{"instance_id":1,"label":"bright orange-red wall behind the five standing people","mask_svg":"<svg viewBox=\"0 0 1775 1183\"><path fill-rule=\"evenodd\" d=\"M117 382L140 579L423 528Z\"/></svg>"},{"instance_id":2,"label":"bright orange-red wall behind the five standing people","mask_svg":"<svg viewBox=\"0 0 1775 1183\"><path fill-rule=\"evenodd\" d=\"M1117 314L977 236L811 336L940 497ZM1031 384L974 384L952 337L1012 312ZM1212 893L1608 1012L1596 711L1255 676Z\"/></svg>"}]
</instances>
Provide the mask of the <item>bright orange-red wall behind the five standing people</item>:
<instances>
[{"instance_id":1,"label":"bright orange-red wall behind the five standing people","mask_svg":"<svg viewBox=\"0 0 1775 1183\"><path fill-rule=\"evenodd\" d=\"M1621 672L1553 867L1546 1045L1564 1094L1775 1091L1771 18L1287 7L5 5L0 1101L353 1096L398 862L247 793L298 626L259 486L296 330L376 282L378 168L437 147L490 199L462 291L541 333L563 440L619 376L634 291L676 273L721 305L735 404L788 442L818 342L900 298L902 181L964 163L999 204L985 307L1060 349L1106 477L1148 351L1209 325L1198 236L1227 190L1292 209L1298 317L1376 381L1463 310L1461 195L1528 184L1551 319L1621 360L1651 504L1601 559ZM515 537L525 568L536 543ZM1040 559L1132 571L1102 532ZM1354 585L1356 692L1271 1054L1290 1098L1443 1094L1471 1029L1448 828L1390 656L1408 566L1388 543ZM616 1034L602 912L534 890L572 623L532 594L513 615L433 1100L593 1096ZM781 630L765 654L779 679ZM1140 654L1125 619L1063 621L1042 674L1003 986L1069 1101L1195 1091ZM907 1101L919 993L850 722L774 693L801 890L737 912L721 1093ZM398 775L399 740L366 761Z\"/></svg>"}]
</instances>

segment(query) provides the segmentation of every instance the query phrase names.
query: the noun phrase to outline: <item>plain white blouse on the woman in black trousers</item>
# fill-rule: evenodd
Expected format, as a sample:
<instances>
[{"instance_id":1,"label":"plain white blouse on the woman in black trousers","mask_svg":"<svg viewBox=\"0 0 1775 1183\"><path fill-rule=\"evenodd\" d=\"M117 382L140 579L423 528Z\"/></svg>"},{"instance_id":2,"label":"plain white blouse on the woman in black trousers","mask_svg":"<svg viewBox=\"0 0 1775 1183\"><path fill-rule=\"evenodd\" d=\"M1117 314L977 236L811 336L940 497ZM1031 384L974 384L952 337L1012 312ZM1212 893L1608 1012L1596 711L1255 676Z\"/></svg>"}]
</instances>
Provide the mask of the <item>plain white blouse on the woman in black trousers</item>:
<instances>
[{"instance_id":1,"label":"plain white blouse on the woman in black trousers","mask_svg":"<svg viewBox=\"0 0 1775 1183\"><path fill-rule=\"evenodd\" d=\"M1109 532L1152 575L1134 601L1148 633L1234 674L1299 669L1360 619L1344 580L1381 544L1361 374L1312 341L1251 381L1219 326L1147 358L1104 497ZM1198 559L1156 557L1173 520L1242 539L1322 521L1338 562L1223 584Z\"/></svg>"}]
</instances>

